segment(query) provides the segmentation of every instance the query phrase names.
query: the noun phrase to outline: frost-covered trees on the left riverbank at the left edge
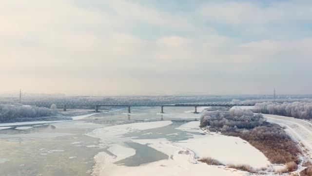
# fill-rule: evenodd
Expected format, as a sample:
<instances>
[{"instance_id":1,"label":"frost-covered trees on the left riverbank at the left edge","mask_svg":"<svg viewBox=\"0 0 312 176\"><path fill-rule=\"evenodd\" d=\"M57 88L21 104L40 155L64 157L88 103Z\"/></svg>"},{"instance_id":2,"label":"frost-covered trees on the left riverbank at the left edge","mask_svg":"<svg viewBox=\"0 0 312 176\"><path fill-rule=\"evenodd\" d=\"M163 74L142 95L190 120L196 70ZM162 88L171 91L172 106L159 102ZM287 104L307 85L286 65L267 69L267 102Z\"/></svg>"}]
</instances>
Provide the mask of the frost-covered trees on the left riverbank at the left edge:
<instances>
[{"instance_id":1,"label":"frost-covered trees on the left riverbank at the left edge","mask_svg":"<svg viewBox=\"0 0 312 176\"><path fill-rule=\"evenodd\" d=\"M25 106L21 104L6 105L0 104L0 122L23 122L40 120L71 120L70 117L64 117L58 110Z\"/></svg>"}]
</instances>

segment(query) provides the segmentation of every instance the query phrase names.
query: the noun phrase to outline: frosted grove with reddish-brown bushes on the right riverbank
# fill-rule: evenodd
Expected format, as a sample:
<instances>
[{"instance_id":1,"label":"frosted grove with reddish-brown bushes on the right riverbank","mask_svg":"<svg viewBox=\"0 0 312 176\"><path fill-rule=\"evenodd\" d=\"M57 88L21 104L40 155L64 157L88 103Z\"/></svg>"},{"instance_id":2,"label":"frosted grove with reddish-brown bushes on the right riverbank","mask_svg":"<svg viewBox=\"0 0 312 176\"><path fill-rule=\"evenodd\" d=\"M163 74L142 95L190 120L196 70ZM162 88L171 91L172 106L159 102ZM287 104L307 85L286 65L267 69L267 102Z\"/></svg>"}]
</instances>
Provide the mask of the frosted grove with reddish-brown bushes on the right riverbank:
<instances>
[{"instance_id":1,"label":"frosted grove with reddish-brown bushes on the right riverbank","mask_svg":"<svg viewBox=\"0 0 312 176\"><path fill-rule=\"evenodd\" d=\"M206 111L200 118L200 126L212 132L239 136L260 150L270 162L292 166L288 171L297 168L301 152L295 142L282 127L266 122L260 113L239 109Z\"/></svg>"}]
</instances>

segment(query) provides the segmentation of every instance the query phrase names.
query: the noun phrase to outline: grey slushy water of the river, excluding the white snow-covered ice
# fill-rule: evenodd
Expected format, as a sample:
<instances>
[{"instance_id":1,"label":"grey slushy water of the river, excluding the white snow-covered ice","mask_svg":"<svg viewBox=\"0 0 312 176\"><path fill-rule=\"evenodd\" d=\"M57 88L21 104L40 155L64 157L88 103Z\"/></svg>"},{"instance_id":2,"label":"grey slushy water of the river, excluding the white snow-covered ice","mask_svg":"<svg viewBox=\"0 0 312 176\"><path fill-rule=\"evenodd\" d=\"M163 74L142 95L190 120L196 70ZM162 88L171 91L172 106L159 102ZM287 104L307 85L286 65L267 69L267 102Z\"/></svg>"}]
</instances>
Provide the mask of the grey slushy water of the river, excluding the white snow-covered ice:
<instances>
[{"instance_id":1,"label":"grey slushy water of the river, excluding the white snow-covered ice","mask_svg":"<svg viewBox=\"0 0 312 176\"><path fill-rule=\"evenodd\" d=\"M112 132L102 132L104 135L105 133L110 135L105 142L92 134L96 129L103 127L159 121L161 118L165 121L199 119L200 114L191 113L193 109L192 107L166 107L164 108L166 113L160 114L159 107L142 107L133 109L131 114L126 113L126 110L116 110L94 114L75 121L26 124L8 129L2 127L0 130L0 175L90 176L96 165L94 157L97 154L105 152L116 158L116 155L109 149L113 144L122 144L131 151L137 151L131 157L116 161L116 165L132 167L167 159L170 157L167 154L128 139L186 140L192 138L192 132L176 129L185 122L170 122L170 124L155 128L139 128L140 130L137 131L121 133L118 137Z\"/></svg>"}]
</instances>

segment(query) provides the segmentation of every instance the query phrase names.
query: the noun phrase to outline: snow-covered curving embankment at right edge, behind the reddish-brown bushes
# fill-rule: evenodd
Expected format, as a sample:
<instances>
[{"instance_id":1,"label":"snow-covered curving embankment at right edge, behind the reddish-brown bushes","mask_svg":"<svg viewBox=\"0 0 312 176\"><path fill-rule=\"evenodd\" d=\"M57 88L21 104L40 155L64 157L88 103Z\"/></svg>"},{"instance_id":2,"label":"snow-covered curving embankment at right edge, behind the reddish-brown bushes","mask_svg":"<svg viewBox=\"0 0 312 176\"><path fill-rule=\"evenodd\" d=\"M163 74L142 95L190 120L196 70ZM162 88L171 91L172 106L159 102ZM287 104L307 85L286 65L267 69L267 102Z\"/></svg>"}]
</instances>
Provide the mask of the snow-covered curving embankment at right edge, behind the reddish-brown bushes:
<instances>
[{"instance_id":1,"label":"snow-covered curving embankment at right edge, behind the reddish-brown bushes","mask_svg":"<svg viewBox=\"0 0 312 176\"><path fill-rule=\"evenodd\" d=\"M263 114L270 123L276 123L287 127L285 129L292 137L302 142L304 146L312 154L312 123L293 117L285 117L280 115Z\"/></svg>"}]
</instances>

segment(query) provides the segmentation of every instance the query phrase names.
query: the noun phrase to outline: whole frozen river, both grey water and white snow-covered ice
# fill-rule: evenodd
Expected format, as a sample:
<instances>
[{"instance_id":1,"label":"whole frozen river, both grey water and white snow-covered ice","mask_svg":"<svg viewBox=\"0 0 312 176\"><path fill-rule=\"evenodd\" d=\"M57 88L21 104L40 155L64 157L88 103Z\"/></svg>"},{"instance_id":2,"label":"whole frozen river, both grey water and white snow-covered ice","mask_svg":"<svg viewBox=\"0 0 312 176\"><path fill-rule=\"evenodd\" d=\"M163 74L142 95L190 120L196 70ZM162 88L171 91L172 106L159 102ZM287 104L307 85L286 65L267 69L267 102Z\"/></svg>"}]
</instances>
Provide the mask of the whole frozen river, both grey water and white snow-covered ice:
<instances>
[{"instance_id":1,"label":"whole frozen river, both grey water and white snow-covered ice","mask_svg":"<svg viewBox=\"0 0 312 176\"><path fill-rule=\"evenodd\" d=\"M201 112L204 107L197 109ZM140 107L77 116L72 121L9 124L0 129L0 176L222 176L248 173L198 162L270 167L239 137L204 132L193 107ZM183 168L183 169L181 169Z\"/></svg>"}]
</instances>

